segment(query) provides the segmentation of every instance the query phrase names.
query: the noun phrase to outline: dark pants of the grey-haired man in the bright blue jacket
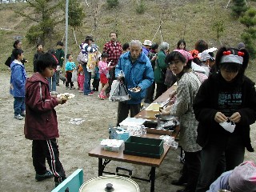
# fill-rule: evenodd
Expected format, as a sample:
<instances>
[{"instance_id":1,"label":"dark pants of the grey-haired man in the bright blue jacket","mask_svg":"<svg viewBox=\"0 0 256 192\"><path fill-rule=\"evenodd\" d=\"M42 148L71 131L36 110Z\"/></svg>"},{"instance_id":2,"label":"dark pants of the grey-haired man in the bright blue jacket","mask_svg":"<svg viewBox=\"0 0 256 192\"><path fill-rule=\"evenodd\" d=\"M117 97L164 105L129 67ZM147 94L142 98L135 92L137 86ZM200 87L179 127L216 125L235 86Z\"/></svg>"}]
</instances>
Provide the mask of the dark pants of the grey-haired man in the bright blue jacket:
<instances>
[{"instance_id":1,"label":"dark pants of the grey-haired man in the bright blue jacket","mask_svg":"<svg viewBox=\"0 0 256 192\"><path fill-rule=\"evenodd\" d=\"M141 110L141 103L138 104L126 104L126 102L118 102L118 124L128 117L130 110L130 117L134 118L136 114Z\"/></svg>"}]
</instances>

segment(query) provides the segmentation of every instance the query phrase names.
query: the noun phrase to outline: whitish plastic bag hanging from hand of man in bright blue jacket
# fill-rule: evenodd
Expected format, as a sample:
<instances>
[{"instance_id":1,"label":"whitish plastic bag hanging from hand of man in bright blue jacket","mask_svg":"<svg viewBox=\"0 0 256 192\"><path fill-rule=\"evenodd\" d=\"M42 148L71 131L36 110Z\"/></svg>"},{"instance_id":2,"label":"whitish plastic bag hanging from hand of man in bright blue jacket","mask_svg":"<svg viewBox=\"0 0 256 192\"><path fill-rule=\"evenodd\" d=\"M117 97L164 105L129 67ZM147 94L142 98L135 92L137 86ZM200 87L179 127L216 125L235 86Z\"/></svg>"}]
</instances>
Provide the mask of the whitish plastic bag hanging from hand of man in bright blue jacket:
<instances>
[{"instance_id":1,"label":"whitish plastic bag hanging from hand of man in bright blue jacket","mask_svg":"<svg viewBox=\"0 0 256 192\"><path fill-rule=\"evenodd\" d=\"M128 94L126 86L122 82L118 80L112 82L109 100L112 102L125 102L130 100L130 94Z\"/></svg>"}]
</instances>

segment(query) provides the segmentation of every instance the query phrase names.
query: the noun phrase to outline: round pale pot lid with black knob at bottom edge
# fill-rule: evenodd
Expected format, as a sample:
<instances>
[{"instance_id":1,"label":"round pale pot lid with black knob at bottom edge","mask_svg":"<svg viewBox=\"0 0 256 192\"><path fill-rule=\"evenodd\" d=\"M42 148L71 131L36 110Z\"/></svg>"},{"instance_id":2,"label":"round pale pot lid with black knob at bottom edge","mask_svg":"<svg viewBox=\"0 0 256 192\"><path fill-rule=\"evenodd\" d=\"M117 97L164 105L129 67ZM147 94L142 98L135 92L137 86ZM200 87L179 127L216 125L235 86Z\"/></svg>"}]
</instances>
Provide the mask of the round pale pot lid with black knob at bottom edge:
<instances>
[{"instance_id":1,"label":"round pale pot lid with black knob at bottom edge","mask_svg":"<svg viewBox=\"0 0 256 192\"><path fill-rule=\"evenodd\" d=\"M139 192L136 182L130 178L120 177L117 175L106 175L97 178L91 178L84 182L79 192Z\"/></svg>"}]
</instances>

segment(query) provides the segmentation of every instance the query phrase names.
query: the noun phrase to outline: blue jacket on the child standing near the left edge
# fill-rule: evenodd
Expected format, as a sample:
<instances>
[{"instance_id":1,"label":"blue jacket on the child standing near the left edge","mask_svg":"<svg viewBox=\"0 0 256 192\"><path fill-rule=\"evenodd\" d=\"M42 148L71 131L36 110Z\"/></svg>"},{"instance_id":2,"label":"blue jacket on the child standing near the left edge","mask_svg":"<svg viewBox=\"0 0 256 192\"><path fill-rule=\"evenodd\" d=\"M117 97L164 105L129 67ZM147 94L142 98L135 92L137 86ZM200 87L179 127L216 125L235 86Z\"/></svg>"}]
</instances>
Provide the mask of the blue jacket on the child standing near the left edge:
<instances>
[{"instance_id":1,"label":"blue jacket on the child standing near the left edge","mask_svg":"<svg viewBox=\"0 0 256 192\"><path fill-rule=\"evenodd\" d=\"M14 60L10 64L10 94L14 97L25 97L25 84L26 84L26 70L22 62Z\"/></svg>"}]
</instances>

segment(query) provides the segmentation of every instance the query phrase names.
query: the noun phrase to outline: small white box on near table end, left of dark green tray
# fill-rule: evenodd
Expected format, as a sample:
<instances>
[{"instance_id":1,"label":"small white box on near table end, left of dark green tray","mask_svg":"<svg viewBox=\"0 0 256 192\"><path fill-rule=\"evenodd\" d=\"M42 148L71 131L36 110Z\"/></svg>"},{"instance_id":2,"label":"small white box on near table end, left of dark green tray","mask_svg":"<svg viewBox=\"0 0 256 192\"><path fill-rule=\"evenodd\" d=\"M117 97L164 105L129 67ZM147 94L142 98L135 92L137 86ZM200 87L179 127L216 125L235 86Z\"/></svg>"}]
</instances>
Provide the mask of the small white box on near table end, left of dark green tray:
<instances>
[{"instance_id":1,"label":"small white box on near table end, left of dark green tray","mask_svg":"<svg viewBox=\"0 0 256 192\"><path fill-rule=\"evenodd\" d=\"M124 141L117 139L103 139L101 142L102 150L119 152L124 147Z\"/></svg>"}]
</instances>

